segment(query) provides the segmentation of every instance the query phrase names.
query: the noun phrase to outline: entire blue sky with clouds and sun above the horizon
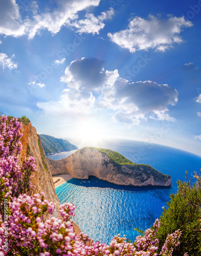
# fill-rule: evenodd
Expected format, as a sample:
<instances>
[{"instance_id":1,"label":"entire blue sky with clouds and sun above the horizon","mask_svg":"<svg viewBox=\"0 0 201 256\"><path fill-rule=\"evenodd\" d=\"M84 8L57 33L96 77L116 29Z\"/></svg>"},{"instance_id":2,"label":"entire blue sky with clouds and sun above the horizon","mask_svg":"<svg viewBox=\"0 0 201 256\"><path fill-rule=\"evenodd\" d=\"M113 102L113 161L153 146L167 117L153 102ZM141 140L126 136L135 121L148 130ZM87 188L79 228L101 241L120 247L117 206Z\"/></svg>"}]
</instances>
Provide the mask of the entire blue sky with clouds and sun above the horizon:
<instances>
[{"instance_id":1,"label":"entire blue sky with clouds and sun above the horizon","mask_svg":"<svg viewBox=\"0 0 201 256\"><path fill-rule=\"evenodd\" d=\"M0 111L201 155L200 24L201 0L0 0Z\"/></svg>"}]
</instances>

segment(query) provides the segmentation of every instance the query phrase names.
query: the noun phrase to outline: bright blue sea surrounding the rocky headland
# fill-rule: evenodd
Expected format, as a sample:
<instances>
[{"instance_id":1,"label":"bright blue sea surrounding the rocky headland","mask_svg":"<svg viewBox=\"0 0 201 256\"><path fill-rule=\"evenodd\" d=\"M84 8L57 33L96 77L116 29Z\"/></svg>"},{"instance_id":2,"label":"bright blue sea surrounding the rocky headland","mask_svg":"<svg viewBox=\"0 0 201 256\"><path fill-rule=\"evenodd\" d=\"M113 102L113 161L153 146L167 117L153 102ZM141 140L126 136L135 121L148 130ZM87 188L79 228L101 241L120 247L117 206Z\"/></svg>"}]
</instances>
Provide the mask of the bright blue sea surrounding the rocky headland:
<instances>
[{"instance_id":1,"label":"bright blue sea surrounding the rocky headland","mask_svg":"<svg viewBox=\"0 0 201 256\"><path fill-rule=\"evenodd\" d=\"M149 228L159 218L169 196L177 190L177 180L185 181L194 171L200 172L201 157L158 144L119 140L107 142L104 148L114 150L129 160L149 164L172 178L170 188L118 186L95 177L88 180L71 179L56 187L60 203L77 206L74 220L94 241L109 243L118 233L134 241L134 228ZM75 151L74 151L75 152ZM55 160L71 152L49 156Z\"/></svg>"}]
</instances>

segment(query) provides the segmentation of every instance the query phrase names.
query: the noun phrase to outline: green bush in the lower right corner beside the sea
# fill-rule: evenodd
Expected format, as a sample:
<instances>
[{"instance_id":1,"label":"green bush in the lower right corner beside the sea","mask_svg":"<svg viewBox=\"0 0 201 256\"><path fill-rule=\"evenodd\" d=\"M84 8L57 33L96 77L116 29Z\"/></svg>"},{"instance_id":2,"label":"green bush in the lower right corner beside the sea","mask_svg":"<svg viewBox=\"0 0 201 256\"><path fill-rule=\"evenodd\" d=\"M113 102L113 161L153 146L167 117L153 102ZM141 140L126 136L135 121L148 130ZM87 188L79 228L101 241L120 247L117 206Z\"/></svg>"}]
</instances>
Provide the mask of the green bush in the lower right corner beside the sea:
<instances>
[{"instance_id":1,"label":"green bush in the lower right corner beside the sea","mask_svg":"<svg viewBox=\"0 0 201 256\"><path fill-rule=\"evenodd\" d=\"M176 194L170 195L168 208L163 210L160 218L160 228L157 237L160 241L161 249L168 233L177 229L182 231L180 246L176 248L172 255L190 256L201 255L201 176L195 173L196 182L178 181Z\"/></svg>"}]
</instances>

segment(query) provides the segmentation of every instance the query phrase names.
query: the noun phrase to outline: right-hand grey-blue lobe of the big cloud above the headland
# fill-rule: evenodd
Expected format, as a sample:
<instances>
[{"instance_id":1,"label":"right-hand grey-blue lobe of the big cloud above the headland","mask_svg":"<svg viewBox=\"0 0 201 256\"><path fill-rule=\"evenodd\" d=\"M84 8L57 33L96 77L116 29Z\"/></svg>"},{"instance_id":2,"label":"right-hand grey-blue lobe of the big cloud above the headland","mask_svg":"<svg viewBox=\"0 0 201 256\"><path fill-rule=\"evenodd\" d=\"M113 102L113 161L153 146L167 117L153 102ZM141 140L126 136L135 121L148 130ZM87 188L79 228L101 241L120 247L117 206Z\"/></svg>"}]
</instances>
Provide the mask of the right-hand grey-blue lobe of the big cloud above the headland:
<instances>
[{"instance_id":1,"label":"right-hand grey-blue lobe of the big cloud above the headland","mask_svg":"<svg viewBox=\"0 0 201 256\"><path fill-rule=\"evenodd\" d=\"M133 83L125 82L122 90L115 89L115 83L105 88L103 100L99 107L121 111L116 115L116 120L122 113L129 118L146 119L147 117L158 120L175 121L167 113L168 105L175 105L177 102L177 91L167 84L157 84L152 81L138 81Z\"/></svg>"}]
</instances>

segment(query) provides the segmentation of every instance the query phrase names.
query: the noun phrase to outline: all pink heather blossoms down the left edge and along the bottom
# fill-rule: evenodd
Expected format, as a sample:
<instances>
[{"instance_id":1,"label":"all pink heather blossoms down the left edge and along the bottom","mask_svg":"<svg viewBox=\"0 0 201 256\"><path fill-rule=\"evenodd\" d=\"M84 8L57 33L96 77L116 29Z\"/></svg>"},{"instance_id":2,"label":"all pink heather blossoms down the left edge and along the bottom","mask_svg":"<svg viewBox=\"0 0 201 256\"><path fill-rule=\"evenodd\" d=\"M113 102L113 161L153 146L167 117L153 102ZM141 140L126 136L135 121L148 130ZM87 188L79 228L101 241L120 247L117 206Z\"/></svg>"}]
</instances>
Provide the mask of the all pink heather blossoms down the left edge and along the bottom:
<instances>
[{"instance_id":1,"label":"all pink heather blossoms down the left edge and along the bottom","mask_svg":"<svg viewBox=\"0 0 201 256\"><path fill-rule=\"evenodd\" d=\"M24 159L18 163L21 150L19 142L21 124L17 119L0 121L0 256L4 255L63 255L63 256L115 256L146 255L157 256L156 220L152 229L145 230L144 236L134 243L120 235L115 236L109 245L91 242L86 234L76 234L71 217L76 208L71 203L59 206L59 218L50 215L54 203L45 199L44 193L31 196L31 179L36 169L34 159ZM9 218L5 221L3 203L7 202ZM5 206L4 206L5 207ZM160 255L172 255L173 248L180 242L181 231L168 235Z\"/></svg>"}]
</instances>

